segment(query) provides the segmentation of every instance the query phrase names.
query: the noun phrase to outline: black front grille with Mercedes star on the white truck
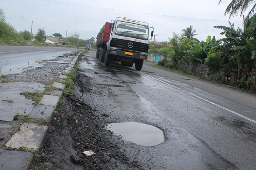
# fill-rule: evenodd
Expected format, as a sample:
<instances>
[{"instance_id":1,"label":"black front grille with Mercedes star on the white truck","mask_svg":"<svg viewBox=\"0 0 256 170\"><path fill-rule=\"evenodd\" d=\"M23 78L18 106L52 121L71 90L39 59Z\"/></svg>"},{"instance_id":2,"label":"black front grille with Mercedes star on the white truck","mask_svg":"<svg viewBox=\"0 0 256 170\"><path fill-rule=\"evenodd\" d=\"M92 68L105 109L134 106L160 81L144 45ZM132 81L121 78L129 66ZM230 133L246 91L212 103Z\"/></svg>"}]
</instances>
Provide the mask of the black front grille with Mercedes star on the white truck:
<instances>
[{"instance_id":1,"label":"black front grille with Mercedes star on the white truck","mask_svg":"<svg viewBox=\"0 0 256 170\"><path fill-rule=\"evenodd\" d=\"M142 42L135 42L135 41L129 41L129 40L121 40L113 38L111 41L111 46L116 48L122 48L129 51L139 51L139 52L148 52L148 44L142 43ZM132 42L133 47L129 48L128 43Z\"/></svg>"}]
</instances>

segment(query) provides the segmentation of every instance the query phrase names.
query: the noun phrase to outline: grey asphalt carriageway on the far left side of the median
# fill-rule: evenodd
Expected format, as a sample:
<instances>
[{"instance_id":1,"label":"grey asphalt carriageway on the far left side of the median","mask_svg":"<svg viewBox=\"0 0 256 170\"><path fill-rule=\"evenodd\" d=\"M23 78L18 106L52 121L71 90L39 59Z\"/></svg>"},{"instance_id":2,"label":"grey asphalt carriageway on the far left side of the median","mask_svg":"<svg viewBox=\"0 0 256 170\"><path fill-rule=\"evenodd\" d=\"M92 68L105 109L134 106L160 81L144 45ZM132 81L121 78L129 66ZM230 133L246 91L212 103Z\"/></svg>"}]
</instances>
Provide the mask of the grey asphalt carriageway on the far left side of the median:
<instances>
[{"instance_id":1,"label":"grey asphalt carriageway on the far left side of the median","mask_svg":"<svg viewBox=\"0 0 256 170\"><path fill-rule=\"evenodd\" d=\"M0 46L0 73L20 73L25 68L38 65L41 60L52 59L76 48Z\"/></svg>"}]
</instances>

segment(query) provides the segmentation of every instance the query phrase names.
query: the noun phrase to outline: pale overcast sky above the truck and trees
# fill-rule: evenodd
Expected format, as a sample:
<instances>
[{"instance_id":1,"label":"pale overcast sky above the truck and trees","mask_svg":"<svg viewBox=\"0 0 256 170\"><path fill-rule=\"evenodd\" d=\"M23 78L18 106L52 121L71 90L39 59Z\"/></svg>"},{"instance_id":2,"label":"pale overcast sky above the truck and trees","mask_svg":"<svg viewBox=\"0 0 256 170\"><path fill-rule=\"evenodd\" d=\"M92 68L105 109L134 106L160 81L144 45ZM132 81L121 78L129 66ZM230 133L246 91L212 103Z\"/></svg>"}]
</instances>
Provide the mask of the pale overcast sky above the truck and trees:
<instances>
[{"instance_id":1,"label":"pale overcast sky above the truck and trees","mask_svg":"<svg viewBox=\"0 0 256 170\"><path fill-rule=\"evenodd\" d=\"M80 39L96 38L99 30L116 17L139 20L154 27L155 41L168 41L173 31L182 33L190 25L198 34L221 39L221 30L213 26L229 26L224 11L230 0L1 0L7 23L17 31L44 28L47 35L60 33L63 37L79 33ZM245 16L247 13L244 14ZM242 27L242 17L230 22Z\"/></svg>"}]
</instances>

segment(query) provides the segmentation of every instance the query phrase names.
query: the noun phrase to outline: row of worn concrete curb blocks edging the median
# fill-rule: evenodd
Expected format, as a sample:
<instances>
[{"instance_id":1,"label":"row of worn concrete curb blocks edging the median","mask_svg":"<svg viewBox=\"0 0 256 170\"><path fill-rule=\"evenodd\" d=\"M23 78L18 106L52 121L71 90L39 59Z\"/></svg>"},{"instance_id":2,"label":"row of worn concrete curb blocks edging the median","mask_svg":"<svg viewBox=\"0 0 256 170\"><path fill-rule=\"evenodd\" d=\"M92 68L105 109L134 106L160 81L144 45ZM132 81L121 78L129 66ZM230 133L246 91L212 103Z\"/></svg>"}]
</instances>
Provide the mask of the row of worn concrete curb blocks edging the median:
<instances>
[{"instance_id":1,"label":"row of worn concrete curb blocks edging the median","mask_svg":"<svg viewBox=\"0 0 256 170\"><path fill-rule=\"evenodd\" d=\"M79 55L74 56L72 61L68 64L67 68L59 75L59 79L67 78L66 73L69 73L74 68ZM64 89L65 85L62 83L54 83L53 87ZM28 114L31 118L43 120L51 124L54 117L54 111L60 105L60 98L63 92L59 90L51 91L49 94L44 95L40 105L33 107L32 111ZM41 151L43 148L48 134L48 126L38 125L35 123L23 123L20 131L15 133L11 139L6 143L6 147L10 150L0 151L0 169L1 170L29 170L33 166L34 151ZM12 149L19 149L23 151L15 151Z\"/></svg>"}]
</instances>

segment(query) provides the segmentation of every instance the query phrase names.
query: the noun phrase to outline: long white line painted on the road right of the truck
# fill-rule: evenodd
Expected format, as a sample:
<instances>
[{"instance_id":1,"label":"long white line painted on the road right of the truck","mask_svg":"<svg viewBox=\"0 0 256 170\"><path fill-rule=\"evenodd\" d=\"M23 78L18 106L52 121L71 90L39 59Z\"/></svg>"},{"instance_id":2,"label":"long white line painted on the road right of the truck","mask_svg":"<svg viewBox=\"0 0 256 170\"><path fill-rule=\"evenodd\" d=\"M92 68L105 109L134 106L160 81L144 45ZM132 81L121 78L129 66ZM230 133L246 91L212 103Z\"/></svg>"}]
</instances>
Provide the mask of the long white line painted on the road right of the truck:
<instances>
[{"instance_id":1,"label":"long white line painted on the road right of the truck","mask_svg":"<svg viewBox=\"0 0 256 170\"><path fill-rule=\"evenodd\" d=\"M233 113L233 114L235 114L235 115L237 115L237 116L240 116L240 117L242 117L242 118L244 118L244 119L246 119L246 120L249 120L250 122L256 123L256 121L253 120L253 119L250 119L250 118L248 118L248 117L246 117L246 116L243 116L243 115L241 115L241 114L239 114L239 113L236 113L236 112L234 112L234 111L231 111L230 109L224 108L224 107L221 106L221 105L218 105L218 104L216 104L216 103L213 103L213 102L211 102L211 101L209 101L209 100L207 100L207 99L204 99L204 98L202 98L202 97L200 97L200 96L197 96L197 95L195 95L195 94L192 94L192 93L190 93L190 92L188 92L188 91L185 91L185 90L183 90L183 89L181 89L181 88L178 88L178 87L176 87L175 85L171 85L171 84L169 84L169 83L167 83L167 82L164 82L164 81L162 81L162 80L160 80L160 79L157 79L157 78L155 78L155 77L149 76L148 74L145 74L145 73L143 73L143 72L141 72L141 71L140 71L140 73L142 73L142 74L144 74L144 75L146 75L146 76L148 76L148 77L151 77L152 79L155 79L155 80L157 80L157 81L163 82L163 83L166 84L166 85L172 86L172 87L174 87L174 88L176 88L176 89L178 89L178 90L180 90L180 91L183 91L183 92L185 92L185 93L187 93L187 94L190 94L191 96L195 96L196 98L201 99L201 100L203 100L203 101L205 101L205 102L208 102L208 103L210 103L210 104L212 104L212 105L215 105L215 106L217 106L217 107L219 107L219 108L222 108L222 109L224 109L225 111L229 111L230 113Z\"/></svg>"}]
</instances>

